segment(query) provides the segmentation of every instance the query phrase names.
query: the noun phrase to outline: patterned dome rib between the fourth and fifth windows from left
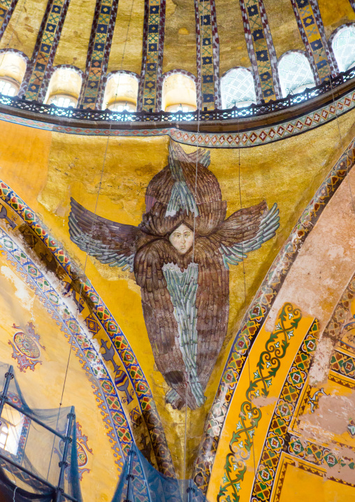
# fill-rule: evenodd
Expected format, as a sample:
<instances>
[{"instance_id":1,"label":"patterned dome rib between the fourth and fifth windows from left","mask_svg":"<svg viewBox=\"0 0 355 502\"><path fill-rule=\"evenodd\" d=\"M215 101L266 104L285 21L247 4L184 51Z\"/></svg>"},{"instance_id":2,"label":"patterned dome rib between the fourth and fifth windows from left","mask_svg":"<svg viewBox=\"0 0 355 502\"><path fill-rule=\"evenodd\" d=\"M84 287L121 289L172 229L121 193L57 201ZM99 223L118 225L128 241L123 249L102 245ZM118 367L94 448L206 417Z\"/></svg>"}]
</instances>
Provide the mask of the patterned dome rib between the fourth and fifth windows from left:
<instances>
[{"instance_id":1,"label":"patterned dome rib between the fourth and fifth windows from left","mask_svg":"<svg viewBox=\"0 0 355 502\"><path fill-rule=\"evenodd\" d=\"M219 38L215 0L194 0L196 17L196 66L200 85L198 106L221 108L219 83Z\"/></svg>"}]
</instances>

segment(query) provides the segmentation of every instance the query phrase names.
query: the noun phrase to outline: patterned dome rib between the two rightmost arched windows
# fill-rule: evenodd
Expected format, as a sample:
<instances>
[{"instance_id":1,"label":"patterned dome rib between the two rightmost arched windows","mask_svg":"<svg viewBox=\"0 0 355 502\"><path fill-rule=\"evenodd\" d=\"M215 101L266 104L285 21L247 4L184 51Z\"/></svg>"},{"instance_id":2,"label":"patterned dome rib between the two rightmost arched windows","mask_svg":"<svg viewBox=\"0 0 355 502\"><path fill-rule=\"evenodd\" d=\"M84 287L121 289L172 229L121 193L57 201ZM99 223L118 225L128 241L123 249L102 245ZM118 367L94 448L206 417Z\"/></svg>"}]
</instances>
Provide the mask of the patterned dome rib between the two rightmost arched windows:
<instances>
[{"instance_id":1,"label":"patterned dome rib between the two rightmost arched windows","mask_svg":"<svg viewBox=\"0 0 355 502\"><path fill-rule=\"evenodd\" d=\"M300 36L305 44L317 84L339 73L326 41L317 0L291 0Z\"/></svg>"}]
</instances>

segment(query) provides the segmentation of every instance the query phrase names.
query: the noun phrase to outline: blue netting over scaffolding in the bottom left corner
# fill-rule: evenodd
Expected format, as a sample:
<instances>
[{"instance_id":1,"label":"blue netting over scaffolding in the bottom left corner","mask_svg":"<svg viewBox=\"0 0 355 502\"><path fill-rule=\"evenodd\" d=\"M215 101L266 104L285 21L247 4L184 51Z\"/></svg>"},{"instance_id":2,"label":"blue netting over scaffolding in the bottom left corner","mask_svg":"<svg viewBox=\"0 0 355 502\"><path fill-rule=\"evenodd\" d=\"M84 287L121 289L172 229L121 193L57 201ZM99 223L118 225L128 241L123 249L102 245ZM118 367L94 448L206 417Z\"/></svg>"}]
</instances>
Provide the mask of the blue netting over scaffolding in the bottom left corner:
<instances>
[{"instance_id":1,"label":"blue netting over scaffolding in the bottom left corner","mask_svg":"<svg viewBox=\"0 0 355 502\"><path fill-rule=\"evenodd\" d=\"M10 373L0 363L0 502L82 502L74 408L31 409Z\"/></svg>"}]
</instances>

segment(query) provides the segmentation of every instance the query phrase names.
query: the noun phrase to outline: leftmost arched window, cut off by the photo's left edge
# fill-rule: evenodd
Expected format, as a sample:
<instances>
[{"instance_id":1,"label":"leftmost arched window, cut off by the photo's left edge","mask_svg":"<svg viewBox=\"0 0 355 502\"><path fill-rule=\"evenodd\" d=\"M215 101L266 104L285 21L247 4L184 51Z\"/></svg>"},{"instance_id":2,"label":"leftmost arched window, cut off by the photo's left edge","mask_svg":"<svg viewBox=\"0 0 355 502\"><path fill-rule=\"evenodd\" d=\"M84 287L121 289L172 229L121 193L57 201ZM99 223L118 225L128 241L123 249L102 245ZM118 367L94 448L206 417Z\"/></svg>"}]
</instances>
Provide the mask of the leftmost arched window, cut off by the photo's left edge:
<instances>
[{"instance_id":1,"label":"leftmost arched window, cut off by the photo's left edge","mask_svg":"<svg viewBox=\"0 0 355 502\"><path fill-rule=\"evenodd\" d=\"M0 92L6 96L16 96L20 90L26 61L15 52L0 53Z\"/></svg>"}]
</instances>

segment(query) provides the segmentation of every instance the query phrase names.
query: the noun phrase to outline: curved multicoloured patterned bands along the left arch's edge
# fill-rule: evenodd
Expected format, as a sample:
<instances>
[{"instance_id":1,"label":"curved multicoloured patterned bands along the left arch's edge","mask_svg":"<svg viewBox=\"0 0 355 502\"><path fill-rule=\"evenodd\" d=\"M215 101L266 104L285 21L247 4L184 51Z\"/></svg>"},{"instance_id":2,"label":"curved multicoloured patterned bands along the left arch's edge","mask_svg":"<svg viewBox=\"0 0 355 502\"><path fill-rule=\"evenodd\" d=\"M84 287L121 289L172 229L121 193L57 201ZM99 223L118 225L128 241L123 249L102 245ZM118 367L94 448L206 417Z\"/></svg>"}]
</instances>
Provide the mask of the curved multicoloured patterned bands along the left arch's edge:
<instances>
[{"instance_id":1,"label":"curved multicoloured patterned bands along the left arch's edge","mask_svg":"<svg viewBox=\"0 0 355 502\"><path fill-rule=\"evenodd\" d=\"M2 180L0 180L0 206L5 207L7 211L5 217L1 219L2 222L6 220L7 231L4 231L3 226L0 227L0 251L10 252L9 249L1 249L3 248L1 234L7 235L15 245L14 250L26 255L27 269L34 267L39 273L38 277L42 278L42 282L44 280L48 282L48 287L45 288L45 306L55 307L50 315L61 322L62 331L67 338L74 337L74 350L82 360L83 369L88 375L96 378L96 380L91 378L93 385L95 381L99 382L100 387L94 390L94 394L98 396L98 406L103 410L103 419L109 426L108 435L113 440L113 450L117 457L122 459L122 454L128 455L133 439L134 421L131 415L132 410L130 413L128 405L136 401L133 403L136 404L134 410L143 417L147 427L147 435L152 443L157 468L161 473L174 477L171 454L150 386L136 355L113 315L89 280L80 275L66 251L48 233L48 229L36 217L34 211ZM14 217L18 221L14 222ZM17 237L15 241L13 236ZM19 238L24 243L24 249L19 249L15 244ZM45 260L42 270L29 258L31 253L28 254L26 251L27 241L33 243L34 239L41 241L52 256L52 260ZM33 246L28 247L33 249ZM17 257L12 257L12 260L19 261ZM55 273L59 287L53 287L48 279L48 271ZM38 288L38 285L36 287ZM58 314L60 311L64 312L61 318ZM78 317L79 313L82 316L81 320ZM88 336L90 325L92 338ZM97 337L94 338L95 331L99 338L103 338L101 346ZM100 348L105 352L99 352ZM117 468L121 470L119 458L116 463Z\"/></svg>"}]
</instances>

